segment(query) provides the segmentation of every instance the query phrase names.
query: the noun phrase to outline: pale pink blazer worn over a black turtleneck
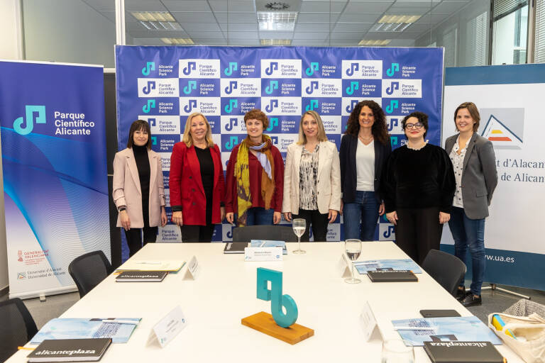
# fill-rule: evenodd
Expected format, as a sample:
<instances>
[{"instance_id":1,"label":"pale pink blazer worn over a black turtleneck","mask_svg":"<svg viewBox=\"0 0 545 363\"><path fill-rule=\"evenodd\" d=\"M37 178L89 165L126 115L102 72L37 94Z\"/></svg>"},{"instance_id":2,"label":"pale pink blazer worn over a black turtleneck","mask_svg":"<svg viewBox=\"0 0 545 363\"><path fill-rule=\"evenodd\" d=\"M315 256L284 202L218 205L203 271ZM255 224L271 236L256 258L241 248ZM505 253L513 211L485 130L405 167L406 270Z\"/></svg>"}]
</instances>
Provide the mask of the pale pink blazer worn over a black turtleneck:
<instances>
[{"instance_id":1,"label":"pale pink blazer worn over a black turtleneck","mask_svg":"<svg viewBox=\"0 0 545 363\"><path fill-rule=\"evenodd\" d=\"M155 227L161 225L161 206L165 206L165 188L161 157L153 150L148 150L148 157L150 158L150 227ZM117 208L126 206L131 228L143 228L142 191L132 149L127 148L116 153L111 195L114 197ZM119 216L117 216L117 226L121 227Z\"/></svg>"}]
</instances>

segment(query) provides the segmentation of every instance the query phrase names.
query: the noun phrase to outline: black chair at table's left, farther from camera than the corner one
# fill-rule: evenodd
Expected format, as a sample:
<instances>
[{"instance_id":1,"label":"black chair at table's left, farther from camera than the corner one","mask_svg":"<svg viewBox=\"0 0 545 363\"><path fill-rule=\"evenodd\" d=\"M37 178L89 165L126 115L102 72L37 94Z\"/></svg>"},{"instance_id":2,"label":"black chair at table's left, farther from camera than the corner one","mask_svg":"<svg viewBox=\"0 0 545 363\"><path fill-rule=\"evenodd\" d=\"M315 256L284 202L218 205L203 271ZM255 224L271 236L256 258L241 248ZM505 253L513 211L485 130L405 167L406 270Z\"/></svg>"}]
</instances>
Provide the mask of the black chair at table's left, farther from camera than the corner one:
<instances>
[{"instance_id":1,"label":"black chair at table's left, farther from camera than the corner one","mask_svg":"<svg viewBox=\"0 0 545 363\"><path fill-rule=\"evenodd\" d=\"M82 298L102 280L114 272L102 251L93 251L76 257L68 265L68 272L76 283L79 297Z\"/></svg>"}]
</instances>

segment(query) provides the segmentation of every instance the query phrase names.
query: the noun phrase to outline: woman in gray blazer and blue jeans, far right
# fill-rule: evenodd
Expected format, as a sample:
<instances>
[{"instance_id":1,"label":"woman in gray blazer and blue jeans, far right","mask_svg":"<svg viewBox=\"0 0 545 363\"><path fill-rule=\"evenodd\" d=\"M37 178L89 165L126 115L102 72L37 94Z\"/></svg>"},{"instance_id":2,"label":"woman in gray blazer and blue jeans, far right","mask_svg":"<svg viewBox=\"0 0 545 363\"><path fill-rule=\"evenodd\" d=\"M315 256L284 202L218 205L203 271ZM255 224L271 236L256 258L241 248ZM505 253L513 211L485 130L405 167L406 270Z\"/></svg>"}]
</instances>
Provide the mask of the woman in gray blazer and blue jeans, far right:
<instances>
[{"instance_id":1,"label":"woman in gray blazer and blue jeans, far right","mask_svg":"<svg viewBox=\"0 0 545 363\"><path fill-rule=\"evenodd\" d=\"M469 247L473 267L470 292L466 294L463 281L458 286L458 300L464 306L482 303L480 287L485 274L485 218L497 185L494 147L477 134L479 121L477 106L473 102L464 102L454 111L454 123L459 133L445 142L456 177L448 227L454 239L456 257L466 262Z\"/></svg>"}]
</instances>

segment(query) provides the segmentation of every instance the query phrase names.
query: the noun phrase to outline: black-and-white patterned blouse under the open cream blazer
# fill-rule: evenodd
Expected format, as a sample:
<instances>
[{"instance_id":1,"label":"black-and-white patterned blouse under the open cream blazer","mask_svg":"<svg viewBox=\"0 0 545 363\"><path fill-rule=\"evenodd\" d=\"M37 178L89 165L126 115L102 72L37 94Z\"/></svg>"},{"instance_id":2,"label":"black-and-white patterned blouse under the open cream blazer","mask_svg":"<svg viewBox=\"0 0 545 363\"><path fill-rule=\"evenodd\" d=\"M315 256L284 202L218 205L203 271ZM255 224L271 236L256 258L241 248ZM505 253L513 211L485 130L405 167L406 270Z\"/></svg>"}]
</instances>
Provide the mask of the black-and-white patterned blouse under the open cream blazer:
<instances>
[{"instance_id":1,"label":"black-and-white patterned blouse under the open cream blazer","mask_svg":"<svg viewBox=\"0 0 545 363\"><path fill-rule=\"evenodd\" d=\"M299 163L299 208L314 211L318 209L316 187L318 180L319 145L309 152L303 147Z\"/></svg>"}]
</instances>

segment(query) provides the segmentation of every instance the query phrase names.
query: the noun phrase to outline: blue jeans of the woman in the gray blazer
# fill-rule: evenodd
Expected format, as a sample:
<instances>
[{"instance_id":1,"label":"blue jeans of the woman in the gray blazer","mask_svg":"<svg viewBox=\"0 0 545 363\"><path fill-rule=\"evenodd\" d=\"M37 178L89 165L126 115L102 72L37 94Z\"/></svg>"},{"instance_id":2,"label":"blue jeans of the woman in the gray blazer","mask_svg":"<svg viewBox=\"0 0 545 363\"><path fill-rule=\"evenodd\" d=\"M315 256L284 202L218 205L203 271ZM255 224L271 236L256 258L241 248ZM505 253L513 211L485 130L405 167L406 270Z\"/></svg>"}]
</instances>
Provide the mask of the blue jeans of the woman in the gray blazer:
<instances>
[{"instance_id":1,"label":"blue jeans of the woman in the gray blazer","mask_svg":"<svg viewBox=\"0 0 545 363\"><path fill-rule=\"evenodd\" d=\"M485 218L470 219L463 208L452 208L451 220L448 221L454 238L454 253L466 263L466 255L471 254L471 293L480 296L480 287L485 276ZM463 281L460 286L463 286Z\"/></svg>"}]
</instances>

